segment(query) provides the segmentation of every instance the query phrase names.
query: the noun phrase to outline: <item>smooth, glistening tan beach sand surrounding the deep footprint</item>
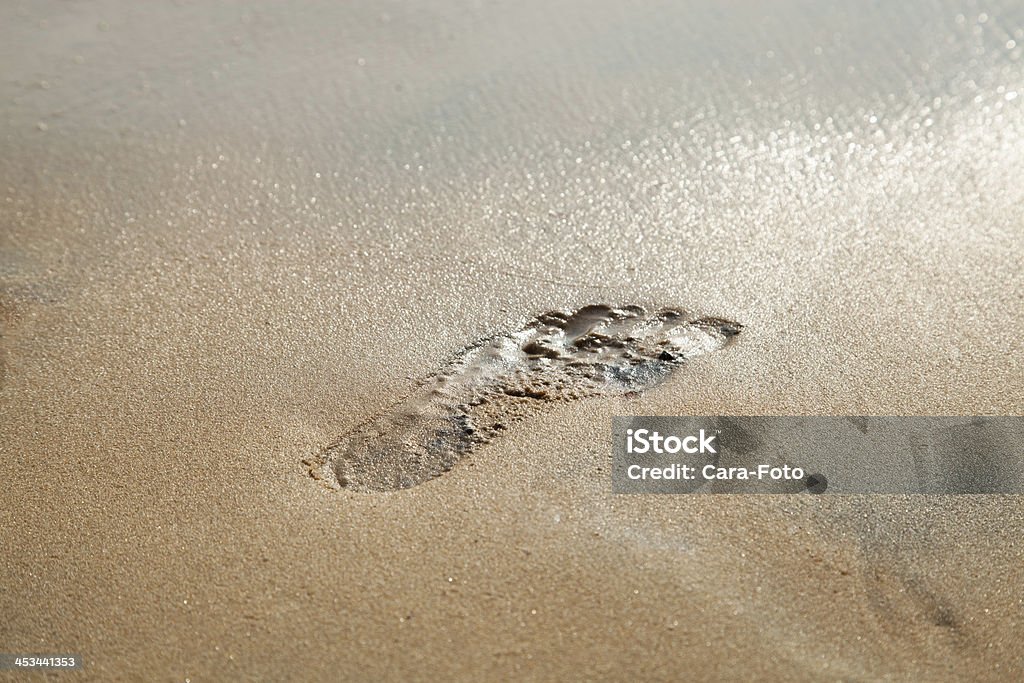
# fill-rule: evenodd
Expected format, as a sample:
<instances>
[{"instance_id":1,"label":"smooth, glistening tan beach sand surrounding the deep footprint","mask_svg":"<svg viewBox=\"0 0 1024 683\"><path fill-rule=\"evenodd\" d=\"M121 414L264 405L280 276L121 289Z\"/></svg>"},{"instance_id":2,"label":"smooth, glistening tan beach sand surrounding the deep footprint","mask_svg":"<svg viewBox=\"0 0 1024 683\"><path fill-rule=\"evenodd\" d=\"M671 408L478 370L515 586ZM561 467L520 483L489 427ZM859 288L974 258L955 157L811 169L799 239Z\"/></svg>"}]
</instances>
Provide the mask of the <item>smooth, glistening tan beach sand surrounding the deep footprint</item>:
<instances>
[{"instance_id":1,"label":"smooth, glistening tan beach sand surrounding the deep footprint","mask_svg":"<svg viewBox=\"0 0 1024 683\"><path fill-rule=\"evenodd\" d=\"M607 468L614 415L1021 413L1022 50L1014 2L4 3L0 650L1019 677L1019 498ZM745 328L414 488L307 476L474 339L589 303Z\"/></svg>"}]
</instances>

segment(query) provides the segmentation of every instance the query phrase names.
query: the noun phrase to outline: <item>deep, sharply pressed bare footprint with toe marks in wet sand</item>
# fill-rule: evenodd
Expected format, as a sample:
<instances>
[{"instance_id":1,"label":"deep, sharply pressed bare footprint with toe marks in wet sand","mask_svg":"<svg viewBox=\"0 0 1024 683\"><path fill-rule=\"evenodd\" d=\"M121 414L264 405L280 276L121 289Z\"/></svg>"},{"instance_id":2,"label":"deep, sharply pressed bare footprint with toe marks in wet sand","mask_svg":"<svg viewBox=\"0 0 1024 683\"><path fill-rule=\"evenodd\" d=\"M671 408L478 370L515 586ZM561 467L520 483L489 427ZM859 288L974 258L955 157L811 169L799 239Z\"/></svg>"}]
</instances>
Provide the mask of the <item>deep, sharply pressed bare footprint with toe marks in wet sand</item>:
<instances>
[{"instance_id":1,"label":"deep, sharply pressed bare footprint with toe marks in wet sand","mask_svg":"<svg viewBox=\"0 0 1024 683\"><path fill-rule=\"evenodd\" d=\"M407 398L306 461L310 475L359 492L408 488L552 403L643 391L725 346L741 326L676 308L585 306L460 351Z\"/></svg>"}]
</instances>

